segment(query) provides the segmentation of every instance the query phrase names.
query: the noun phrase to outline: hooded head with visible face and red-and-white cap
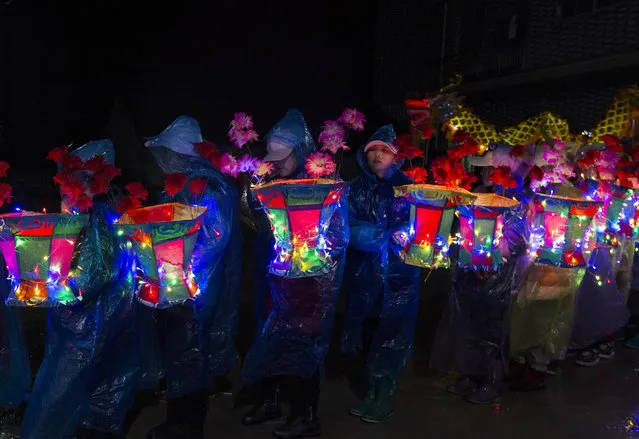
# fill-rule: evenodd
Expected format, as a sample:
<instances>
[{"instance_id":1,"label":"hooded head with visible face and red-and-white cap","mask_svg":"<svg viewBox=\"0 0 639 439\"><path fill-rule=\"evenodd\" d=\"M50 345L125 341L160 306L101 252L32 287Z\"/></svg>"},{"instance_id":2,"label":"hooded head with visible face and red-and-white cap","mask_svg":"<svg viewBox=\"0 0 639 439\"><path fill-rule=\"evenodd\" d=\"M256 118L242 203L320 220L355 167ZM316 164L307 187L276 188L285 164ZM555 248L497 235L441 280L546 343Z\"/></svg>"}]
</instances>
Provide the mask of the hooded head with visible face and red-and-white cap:
<instances>
[{"instance_id":1,"label":"hooded head with visible face and red-and-white cap","mask_svg":"<svg viewBox=\"0 0 639 439\"><path fill-rule=\"evenodd\" d=\"M366 175L389 179L401 167L397 147L393 145L395 137L393 126L384 125L357 151L357 160Z\"/></svg>"}]
</instances>

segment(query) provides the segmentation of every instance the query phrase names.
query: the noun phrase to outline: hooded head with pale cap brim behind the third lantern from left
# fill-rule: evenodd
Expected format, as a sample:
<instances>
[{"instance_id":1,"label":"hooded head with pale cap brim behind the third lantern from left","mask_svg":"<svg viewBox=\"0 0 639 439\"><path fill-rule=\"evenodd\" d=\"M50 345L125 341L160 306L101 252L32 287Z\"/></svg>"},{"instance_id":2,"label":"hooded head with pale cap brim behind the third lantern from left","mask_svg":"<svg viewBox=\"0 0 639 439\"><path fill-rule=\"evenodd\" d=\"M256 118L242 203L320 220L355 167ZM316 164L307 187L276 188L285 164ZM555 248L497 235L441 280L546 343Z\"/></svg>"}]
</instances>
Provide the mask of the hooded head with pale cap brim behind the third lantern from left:
<instances>
[{"instance_id":1,"label":"hooded head with pale cap brim behind the third lantern from left","mask_svg":"<svg viewBox=\"0 0 639 439\"><path fill-rule=\"evenodd\" d=\"M304 169L306 157L315 151L315 142L297 108L288 110L271 128L266 135L266 149L264 160L275 165L279 177L292 177Z\"/></svg>"}]
</instances>

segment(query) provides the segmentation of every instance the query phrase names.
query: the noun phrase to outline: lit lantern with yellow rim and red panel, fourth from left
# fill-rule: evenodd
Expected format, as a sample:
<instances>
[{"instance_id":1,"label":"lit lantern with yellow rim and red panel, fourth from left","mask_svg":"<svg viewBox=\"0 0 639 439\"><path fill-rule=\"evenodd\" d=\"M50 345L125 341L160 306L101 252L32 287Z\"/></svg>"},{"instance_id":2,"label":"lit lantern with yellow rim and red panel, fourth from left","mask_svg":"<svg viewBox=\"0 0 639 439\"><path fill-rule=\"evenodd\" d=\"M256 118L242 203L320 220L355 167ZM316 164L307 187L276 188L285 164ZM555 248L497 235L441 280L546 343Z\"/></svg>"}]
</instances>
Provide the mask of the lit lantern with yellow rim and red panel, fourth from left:
<instances>
[{"instance_id":1,"label":"lit lantern with yellow rim and red panel, fourth from left","mask_svg":"<svg viewBox=\"0 0 639 439\"><path fill-rule=\"evenodd\" d=\"M448 267L450 230L457 206L471 203L476 195L464 189L430 184L395 188L396 197L410 203L409 242L402 252L404 262L418 267Z\"/></svg>"}]
</instances>

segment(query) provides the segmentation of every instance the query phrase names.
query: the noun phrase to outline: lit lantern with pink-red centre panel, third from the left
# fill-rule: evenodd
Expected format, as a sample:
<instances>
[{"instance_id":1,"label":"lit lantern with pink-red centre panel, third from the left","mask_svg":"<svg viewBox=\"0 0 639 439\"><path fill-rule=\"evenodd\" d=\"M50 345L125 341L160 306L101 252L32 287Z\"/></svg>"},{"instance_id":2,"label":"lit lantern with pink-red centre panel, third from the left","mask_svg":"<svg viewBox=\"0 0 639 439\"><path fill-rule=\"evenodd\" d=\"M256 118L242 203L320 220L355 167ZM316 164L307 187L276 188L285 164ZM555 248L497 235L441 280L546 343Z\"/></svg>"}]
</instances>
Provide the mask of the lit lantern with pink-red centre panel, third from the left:
<instances>
[{"instance_id":1,"label":"lit lantern with pink-red centre panel, third from the left","mask_svg":"<svg viewBox=\"0 0 639 439\"><path fill-rule=\"evenodd\" d=\"M344 183L328 179L276 180L252 189L275 238L269 271L289 278L316 276L333 267L326 238Z\"/></svg>"}]
</instances>

